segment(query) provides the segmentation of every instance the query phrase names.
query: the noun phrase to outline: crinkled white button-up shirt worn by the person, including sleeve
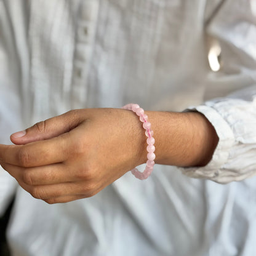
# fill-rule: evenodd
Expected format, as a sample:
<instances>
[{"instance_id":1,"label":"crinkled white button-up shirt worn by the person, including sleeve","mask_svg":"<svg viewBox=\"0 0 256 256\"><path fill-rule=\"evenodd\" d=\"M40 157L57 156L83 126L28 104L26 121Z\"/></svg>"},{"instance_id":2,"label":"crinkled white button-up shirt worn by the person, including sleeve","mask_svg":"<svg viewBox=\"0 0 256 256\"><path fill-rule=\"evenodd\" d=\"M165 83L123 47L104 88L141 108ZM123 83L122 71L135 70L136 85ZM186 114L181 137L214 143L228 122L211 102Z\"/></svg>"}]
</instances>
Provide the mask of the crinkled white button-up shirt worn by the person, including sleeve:
<instances>
[{"instance_id":1,"label":"crinkled white button-up shirt worn by the person, including sleeve","mask_svg":"<svg viewBox=\"0 0 256 256\"><path fill-rule=\"evenodd\" d=\"M212 161L187 176L156 166L143 182L127 173L51 206L18 187L12 255L255 255L255 23L254 0L0 0L1 143L72 108L129 102L191 106L220 138ZM222 48L217 73L208 37Z\"/></svg>"}]
</instances>

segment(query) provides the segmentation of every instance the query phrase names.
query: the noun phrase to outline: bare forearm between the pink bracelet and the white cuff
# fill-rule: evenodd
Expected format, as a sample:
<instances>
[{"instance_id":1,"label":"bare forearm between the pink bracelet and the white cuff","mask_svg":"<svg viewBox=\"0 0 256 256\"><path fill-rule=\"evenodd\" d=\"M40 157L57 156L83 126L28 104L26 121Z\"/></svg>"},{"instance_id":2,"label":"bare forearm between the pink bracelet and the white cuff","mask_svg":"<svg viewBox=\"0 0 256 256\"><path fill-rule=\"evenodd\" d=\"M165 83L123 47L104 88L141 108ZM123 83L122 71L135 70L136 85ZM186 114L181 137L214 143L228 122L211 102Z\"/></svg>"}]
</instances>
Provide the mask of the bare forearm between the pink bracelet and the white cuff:
<instances>
[{"instance_id":1,"label":"bare forearm between the pink bracelet and the white cuff","mask_svg":"<svg viewBox=\"0 0 256 256\"><path fill-rule=\"evenodd\" d=\"M157 164L188 167L204 166L210 161L218 136L201 113L146 111L146 114L156 139Z\"/></svg>"}]
</instances>

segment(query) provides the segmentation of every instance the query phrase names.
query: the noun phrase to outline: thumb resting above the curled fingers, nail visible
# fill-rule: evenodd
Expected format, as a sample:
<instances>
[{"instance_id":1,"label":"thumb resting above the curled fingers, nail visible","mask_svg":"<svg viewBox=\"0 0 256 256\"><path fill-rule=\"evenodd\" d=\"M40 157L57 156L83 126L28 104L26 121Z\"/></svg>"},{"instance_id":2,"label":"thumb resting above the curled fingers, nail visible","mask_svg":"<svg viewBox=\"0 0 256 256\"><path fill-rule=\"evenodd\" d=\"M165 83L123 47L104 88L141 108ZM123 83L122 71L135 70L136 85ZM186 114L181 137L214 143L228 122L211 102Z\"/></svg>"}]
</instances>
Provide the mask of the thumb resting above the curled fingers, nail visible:
<instances>
[{"instance_id":1,"label":"thumb resting above the curled fingers, nail visible","mask_svg":"<svg viewBox=\"0 0 256 256\"><path fill-rule=\"evenodd\" d=\"M77 111L69 111L60 116L37 122L34 126L10 135L14 144L26 144L38 140L47 140L69 132L81 122Z\"/></svg>"}]
</instances>

